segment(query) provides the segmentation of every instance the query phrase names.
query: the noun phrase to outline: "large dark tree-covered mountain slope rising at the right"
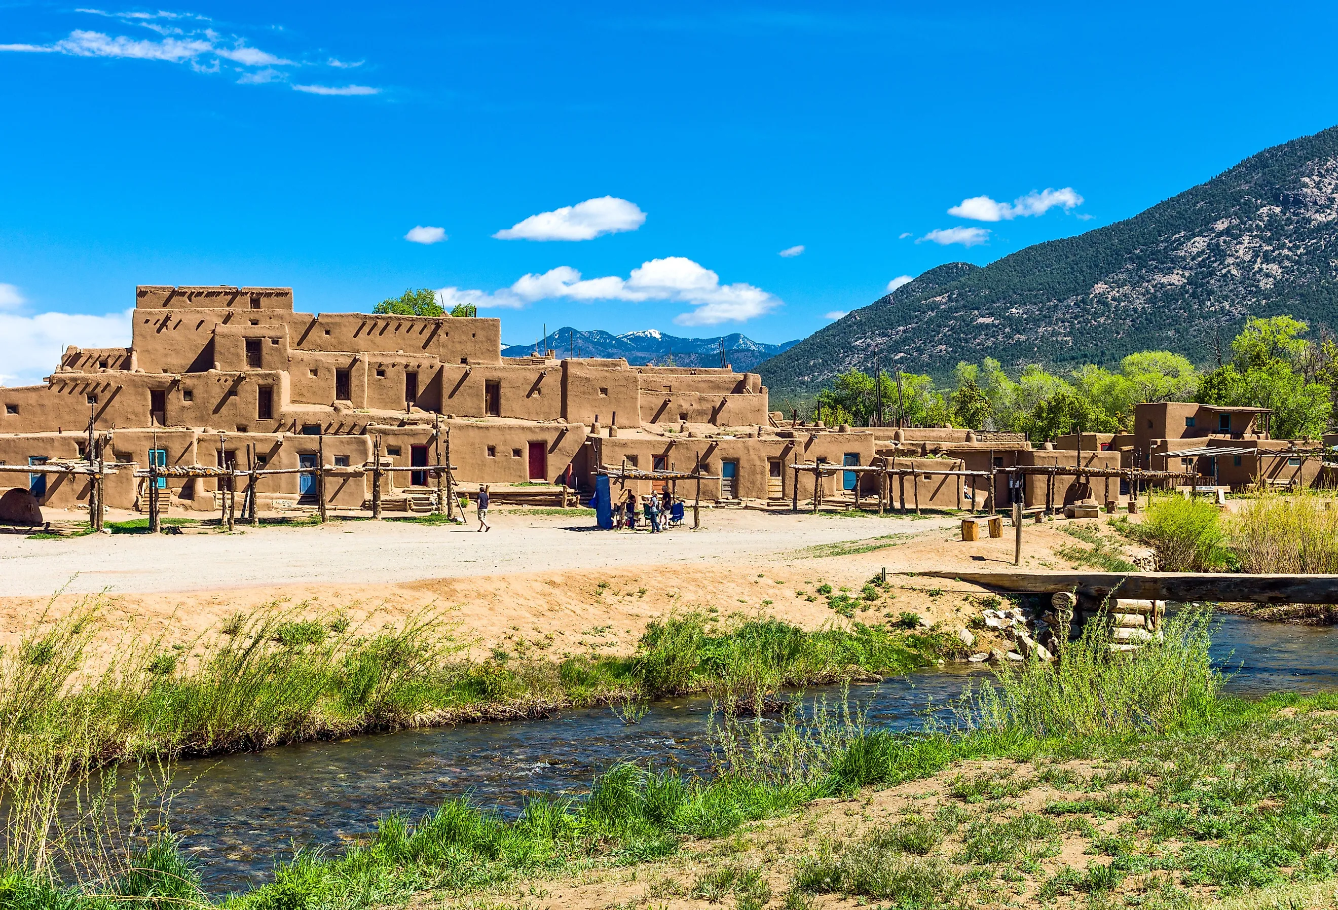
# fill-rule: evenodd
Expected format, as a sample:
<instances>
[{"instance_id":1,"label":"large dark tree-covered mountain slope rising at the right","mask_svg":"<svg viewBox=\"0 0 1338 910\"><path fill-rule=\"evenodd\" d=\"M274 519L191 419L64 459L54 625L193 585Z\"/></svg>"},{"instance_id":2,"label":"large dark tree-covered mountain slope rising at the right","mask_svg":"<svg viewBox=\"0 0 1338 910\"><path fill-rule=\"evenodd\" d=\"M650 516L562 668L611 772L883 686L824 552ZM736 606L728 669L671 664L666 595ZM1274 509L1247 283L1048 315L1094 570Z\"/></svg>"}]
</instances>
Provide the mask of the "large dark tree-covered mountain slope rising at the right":
<instances>
[{"instance_id":1,"label":"large dark tree-covered mountain slope rising at the right","mask_svg":"<svg viewBox=\"0 0 1338 910\"><path fill-rule=\"evenodd\" d=\"M1338 324L1338 127L1262 151L1147 211L985 268L930 269L759 367L801 399L848 369L1072 367L1169 349L1198 363L1250 316Z\"/></svg>"}]
</instances>

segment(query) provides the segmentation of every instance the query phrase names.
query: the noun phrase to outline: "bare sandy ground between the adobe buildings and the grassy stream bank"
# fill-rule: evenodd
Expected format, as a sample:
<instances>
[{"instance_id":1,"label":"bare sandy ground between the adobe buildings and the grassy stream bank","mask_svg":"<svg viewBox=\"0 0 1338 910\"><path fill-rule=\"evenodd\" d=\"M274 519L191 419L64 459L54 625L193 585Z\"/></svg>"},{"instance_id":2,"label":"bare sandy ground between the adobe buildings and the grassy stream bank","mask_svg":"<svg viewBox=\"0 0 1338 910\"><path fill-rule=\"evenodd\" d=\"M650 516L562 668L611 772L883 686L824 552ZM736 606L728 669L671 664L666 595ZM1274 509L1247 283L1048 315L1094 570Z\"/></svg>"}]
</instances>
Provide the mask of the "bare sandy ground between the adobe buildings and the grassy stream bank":
<instances>
[{"instance_id":1,"label":"bare sandy ground between the adobe buildings and the grassy stream bank","mask_svg":"<svg viewBox=\"0 0 1338 910\"><path fill-rule=\"evenodd\" d=\"M488 534L333 522L233 535L5 537L0 645L44 613L64 613L106 592L104 644L127 634L189 644L237 610L277 605L302 616L345 613L364 628L434 610L458 625L476 656L498 646L553 657L628 653L646 622L673 610L776 616L815 629L844 622L816 593L819 585L858 592L883 567L892 575L1008 567L1013 557L1012 529L1004 538L967 543L957 519L945 517L721 510L705 522L704 530L658 535L590 531L579 518L498 514ZM1024 529L1024 567L1069 567L1052 553L1074 543L1058 527ZM68 593L52 601L67 582ZM856 613L858 620L915 612L926 625L957 629L986 594L914 575L890 582L892 597Z\"/></svg>"}]
</instances>

